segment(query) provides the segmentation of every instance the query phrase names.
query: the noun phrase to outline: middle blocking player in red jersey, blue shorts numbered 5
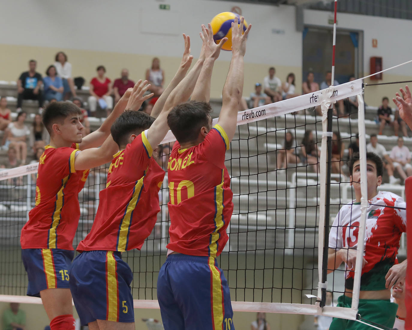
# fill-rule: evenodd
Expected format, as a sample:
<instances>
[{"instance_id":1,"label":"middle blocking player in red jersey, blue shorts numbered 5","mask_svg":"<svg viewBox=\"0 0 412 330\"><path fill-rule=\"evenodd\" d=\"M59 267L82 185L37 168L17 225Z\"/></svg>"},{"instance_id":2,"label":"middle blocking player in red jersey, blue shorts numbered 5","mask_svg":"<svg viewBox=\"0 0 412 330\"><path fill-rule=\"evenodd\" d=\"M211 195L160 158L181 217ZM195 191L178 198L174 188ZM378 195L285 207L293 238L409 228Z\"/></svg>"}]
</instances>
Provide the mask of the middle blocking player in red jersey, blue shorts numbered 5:
<instances>
[{"instance_id":1,"label":"middle blocking player in red jersey, blue shorts numbered 5","mask_svg":"<svg viewBox=\"0 0 412 330\"><path fill-rule=\"evenodd\" d=\"M152 150L169 130L167 115L189 98L203 65L202 52L185 77L192 56L190 39L183 36L185 52L178 72L152 111L158 118L153 122L143 112L125 112L112 125L121 151L112 160L93 226L77 247L81 253L70 269L73 301L82 325L88 324L91 330L135 328L133 274L121 253L140 249L155 226L164 170L153 159Z\"/></svg>"}]
</instances>

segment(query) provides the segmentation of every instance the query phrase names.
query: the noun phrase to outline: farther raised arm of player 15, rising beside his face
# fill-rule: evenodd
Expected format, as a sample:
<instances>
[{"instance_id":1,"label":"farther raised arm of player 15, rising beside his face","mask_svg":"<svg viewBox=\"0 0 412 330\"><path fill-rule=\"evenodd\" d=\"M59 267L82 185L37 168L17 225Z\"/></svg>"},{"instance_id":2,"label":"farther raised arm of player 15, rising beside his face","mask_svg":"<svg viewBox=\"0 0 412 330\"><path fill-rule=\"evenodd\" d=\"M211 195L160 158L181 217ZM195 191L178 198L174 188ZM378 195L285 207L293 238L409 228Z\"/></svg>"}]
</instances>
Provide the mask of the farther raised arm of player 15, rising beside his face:
<instances>
[{"instance_id":1,"label":"farther raised arm of player 15, rising beside his face","mask_svg":"<svg viewBox=\"0 0 412 330\"><path fill-rule=\"evenodd\" d=\"M143 94L145 93L145 91L147 91L147 88L149 87L150 85L147 84L147 81L143 81L142 83L141 80L139 80L134 86L134 88L138 88L140 92L139 95L142 95L142 97L139 99L141 100L141 102L153 96L153 94L143 96ZM126 109L126 105L128 103L130 95L131 95L131 91L126 91L126 93L124 93L122 98L120 98L119 102L117 102L112 113L109 114L109 116L105 119L103 124L96 131L90 133L89 135L83 138L82 143L80 143L80 150L95 148L95 147L101 146L103 142L105 142L105 139L107 139L107 137L110 135L110 127L115 122L117 117L120 116L124 112L124 109Z\"/></svg>"}]
</instances>

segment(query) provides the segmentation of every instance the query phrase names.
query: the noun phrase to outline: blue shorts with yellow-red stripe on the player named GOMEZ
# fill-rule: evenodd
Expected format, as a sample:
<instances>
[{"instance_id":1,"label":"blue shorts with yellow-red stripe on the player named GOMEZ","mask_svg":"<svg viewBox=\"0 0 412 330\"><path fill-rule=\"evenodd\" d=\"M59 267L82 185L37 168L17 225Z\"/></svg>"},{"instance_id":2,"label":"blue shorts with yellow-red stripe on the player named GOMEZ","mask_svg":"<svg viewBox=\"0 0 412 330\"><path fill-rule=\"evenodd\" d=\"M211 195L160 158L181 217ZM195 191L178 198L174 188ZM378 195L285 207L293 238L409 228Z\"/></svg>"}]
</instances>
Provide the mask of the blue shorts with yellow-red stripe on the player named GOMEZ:
<instances>
[{"instance_id":1,"label":"blue shorts with yellow-red stripe on the player named GOMEZ","mask_svg":"<svg viewBox=\"0 0 412 330\"><path fill-rule=\"evenodd\" d=\"M165 330L234 330L229 286L215 258L169 255L157 300Z\"/></svg>"}]
</instances>

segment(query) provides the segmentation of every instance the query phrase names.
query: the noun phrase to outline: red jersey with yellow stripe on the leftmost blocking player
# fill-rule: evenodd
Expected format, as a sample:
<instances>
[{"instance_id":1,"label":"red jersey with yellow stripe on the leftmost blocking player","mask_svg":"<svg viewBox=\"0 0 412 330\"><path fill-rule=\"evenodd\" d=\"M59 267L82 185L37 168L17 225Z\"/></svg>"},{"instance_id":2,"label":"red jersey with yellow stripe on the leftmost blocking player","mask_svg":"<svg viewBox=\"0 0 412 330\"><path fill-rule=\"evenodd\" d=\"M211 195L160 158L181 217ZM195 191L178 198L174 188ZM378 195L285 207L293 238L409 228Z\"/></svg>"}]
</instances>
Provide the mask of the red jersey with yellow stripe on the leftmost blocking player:
<instances>
[{"instance_id":1,"label":"red jersey with yellow stripe on the leftmost blocking player","mask_svg":"<svg viewBox=\"0 0 412 330\"><path fill-rule=\"evenodd\" d=\"M80 217L78 194L89 170L75 170L78 144L54 148L47 145L39 160L35 207L21 230L22 249L73 250Z\"/></svg>"}]
</instances>

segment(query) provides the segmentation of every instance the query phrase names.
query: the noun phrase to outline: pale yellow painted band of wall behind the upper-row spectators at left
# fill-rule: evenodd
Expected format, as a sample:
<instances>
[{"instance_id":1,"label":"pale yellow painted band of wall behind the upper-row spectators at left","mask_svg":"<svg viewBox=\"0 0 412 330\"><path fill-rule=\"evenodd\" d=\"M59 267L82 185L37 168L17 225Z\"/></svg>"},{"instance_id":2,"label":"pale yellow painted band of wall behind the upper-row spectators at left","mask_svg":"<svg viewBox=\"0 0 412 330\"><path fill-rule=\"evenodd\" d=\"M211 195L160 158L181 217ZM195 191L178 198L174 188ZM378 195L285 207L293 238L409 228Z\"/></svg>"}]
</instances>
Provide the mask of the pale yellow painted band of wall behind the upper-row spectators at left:
<instances>
[{"instance_id":1,"label":"pale yellow painted band of wall behind the upper-row spectators at left","mask_svg":"<svg viewBox=\"0 0 412 330\"><path fill-rule=\"evenodd\" d=\"M54 63L54 56L58 51L64 51L69 62L73 66L73 77L82 76L87 81L87 85L92 77L96 76L96 67L104 65L106 75L112 81L119 78L120 71L126 67L129 69L130 77L133 80L145 79L145 72L152 63L153 56L143 54L129 54L103 51L87 51L80 49L61 49L54 47L16 46L0 44L0 80L16 81L21 72L28 70L28 60L37 60L37 71L44 76L44 72L50 64ZM194 51L193 51L194 52ZM197 53L197 52L196 52ZM169 84L175 74L181 58L159 56L161 67L165 71L165 83ZM254 84L262 83L263 77L267 76L269 65L245 63L245 83L244 96L254 91ZM229 61L218 60L215 63L211 84L211 97L220 98L222 88L225 84ZM276 75L283 81L289 72L294 72L296 81L302 80L302 69L300 66L277 66ZM300 91L302 86L297 83Z\"/></svg>"}]
</instances>

